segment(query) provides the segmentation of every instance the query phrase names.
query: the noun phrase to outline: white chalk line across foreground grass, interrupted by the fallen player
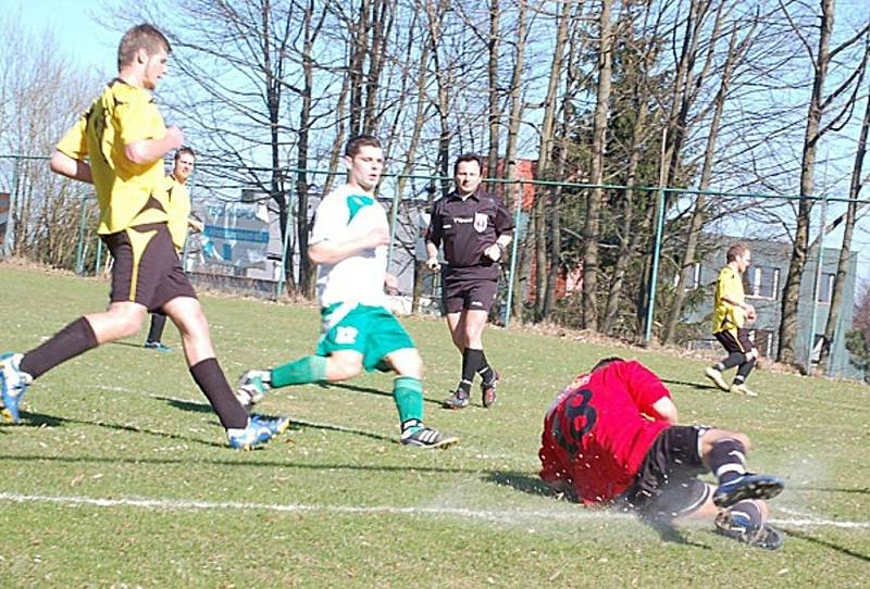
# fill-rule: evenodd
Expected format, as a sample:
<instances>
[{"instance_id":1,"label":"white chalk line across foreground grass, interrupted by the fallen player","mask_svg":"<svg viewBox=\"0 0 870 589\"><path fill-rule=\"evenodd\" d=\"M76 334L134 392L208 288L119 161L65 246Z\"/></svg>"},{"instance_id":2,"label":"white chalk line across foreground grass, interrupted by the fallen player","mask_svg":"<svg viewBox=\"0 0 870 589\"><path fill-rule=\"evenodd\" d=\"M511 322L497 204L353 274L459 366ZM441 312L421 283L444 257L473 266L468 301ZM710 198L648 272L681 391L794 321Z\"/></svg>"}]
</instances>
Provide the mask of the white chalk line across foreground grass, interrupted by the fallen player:
<instances>
[{"instance_id":1,"label":"white chalk line across foreground grass, interrupted by the fallen player","mask_svg":"<svg viewBox=\"0 0 870 589\"><path fill-rule=\"evenodd\" d=\"M91 497L63 497L63 496L41 496L41 494L18 494L0 492L0 501L11 501L15 503L57 503L64 505L90 505L96 507L144 507L152 510L172 511L195 511L195 510L238 510L238 511L273 511L273 512L326 512L351 515L366 514L390 514L390 515L434 515L434 516L456 516L462 518L482 519L486 522L518 523L521 521L559 521L559 522L588 522L589 519L613 521L632 519L630 515L607 512L607 511L585 511L582 507L568 507L562 511L537 511L537 510L471 510L465 507L449 506L408 506L398 507L394 505L316 505L316 504L279 504L279 503L249 503L238 501L197 501L186 499L145 499L145 498L121 498L121 499L100 499ZM841 522L834 519L823 519L818 517L805 517L801 519L771 519L782 526L792 527L835 527L846 529L870 529L870 522Z\"/></svg>"}]
</instances>

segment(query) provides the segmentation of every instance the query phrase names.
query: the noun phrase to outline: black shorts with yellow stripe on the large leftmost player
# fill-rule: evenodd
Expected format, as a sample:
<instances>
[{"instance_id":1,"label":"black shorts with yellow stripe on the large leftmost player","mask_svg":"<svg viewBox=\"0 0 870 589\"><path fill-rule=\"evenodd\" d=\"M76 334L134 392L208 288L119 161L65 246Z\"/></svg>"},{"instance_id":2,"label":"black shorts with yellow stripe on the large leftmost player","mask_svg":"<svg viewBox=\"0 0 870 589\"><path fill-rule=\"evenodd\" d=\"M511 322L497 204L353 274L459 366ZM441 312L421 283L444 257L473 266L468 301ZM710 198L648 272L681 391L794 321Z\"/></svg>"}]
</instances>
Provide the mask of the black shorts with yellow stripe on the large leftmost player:
<instances>
[{"instance_id":1,"label":"black shorts with yellow stripe on the large leftmost player","mask_svg":"<svg viewBox=\"0 0 870 589\"><path fill-rule=\"evenodd\" d=\"M138 225L100 236L114 258L110 300L159 311L176 297L197 293L182 270L165 223Z\"/></svg>"}]
</instances>

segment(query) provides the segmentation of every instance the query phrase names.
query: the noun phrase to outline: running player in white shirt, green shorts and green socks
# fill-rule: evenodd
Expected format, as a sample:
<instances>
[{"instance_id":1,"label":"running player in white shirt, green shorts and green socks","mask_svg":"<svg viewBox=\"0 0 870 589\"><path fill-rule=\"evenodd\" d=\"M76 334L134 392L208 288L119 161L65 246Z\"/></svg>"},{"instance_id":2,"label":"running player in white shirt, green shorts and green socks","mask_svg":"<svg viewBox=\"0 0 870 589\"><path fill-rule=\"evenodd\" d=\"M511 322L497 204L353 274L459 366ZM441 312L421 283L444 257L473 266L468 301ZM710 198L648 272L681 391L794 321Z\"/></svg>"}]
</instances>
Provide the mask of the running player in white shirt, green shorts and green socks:
<instances>
[{"instance_id":1,"label":"running player in white shirt, green shorts and green socks","mask_svg":"<svg viewBox=\"0 0 870 589\"><path fill-rule=\"evenodd\" d=\"M345 148L348 181L318 206L308 248L318 264L318 300L323 329L315 355L276 368L246 372L239 381L243 404L258 402L270 388L337 383L363 368L396 373L393 397L401 423L401 442L446 447L457 438L423 425L423 362L413 340L386 305L389 228L374 189L384 168L380 142L370 136Z\"/></svg>"}]
</instances>

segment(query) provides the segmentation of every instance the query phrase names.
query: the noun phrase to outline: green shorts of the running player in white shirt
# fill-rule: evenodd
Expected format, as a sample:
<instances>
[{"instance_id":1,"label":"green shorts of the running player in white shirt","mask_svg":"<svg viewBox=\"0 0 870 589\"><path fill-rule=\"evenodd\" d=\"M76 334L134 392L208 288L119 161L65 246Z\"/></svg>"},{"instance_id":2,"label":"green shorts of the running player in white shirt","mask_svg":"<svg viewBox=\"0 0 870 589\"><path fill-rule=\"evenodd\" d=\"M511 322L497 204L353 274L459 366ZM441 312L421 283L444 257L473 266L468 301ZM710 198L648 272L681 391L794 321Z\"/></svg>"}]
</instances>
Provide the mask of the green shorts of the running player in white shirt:
<instances>
[{"instance_id":1,"label":"green shorts of the running player in white shirt","mask_svg":"<svg viewBox=\"0 0 870 589\"><path fill-rule=\"evenodd\" d=\"M384 369L384 358L396 350L415 348L411 336L398 319L383 306L336 303L322 309L323 334L318 342L318 355L326 356L340 350L362 354L368 372Z\"/></svg>"}]
</instances>

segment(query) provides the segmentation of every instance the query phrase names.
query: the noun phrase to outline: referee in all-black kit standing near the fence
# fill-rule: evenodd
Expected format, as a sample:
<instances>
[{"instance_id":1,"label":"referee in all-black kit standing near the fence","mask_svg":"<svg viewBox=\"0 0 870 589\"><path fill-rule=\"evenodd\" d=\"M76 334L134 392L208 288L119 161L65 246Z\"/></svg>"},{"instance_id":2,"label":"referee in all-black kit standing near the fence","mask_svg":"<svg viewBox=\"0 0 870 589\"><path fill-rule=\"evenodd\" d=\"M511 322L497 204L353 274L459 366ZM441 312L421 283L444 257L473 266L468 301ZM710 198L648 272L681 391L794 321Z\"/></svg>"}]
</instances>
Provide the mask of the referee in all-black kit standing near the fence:
<instances>
[{"instance_id":1,"label":"referee in all-black kit standing near the fence","mask_svg":"<svg viewBox=\"0 0 870 589\"><path fill-rule=\"evenodd\" d=\"M483 351L483 329L498 292L499 262L513 237L513 221L501 200L481 189L483 160L468 153L453 164L456 189L435 201L426 230L426 266L442 268L442 301L453 346L462 354L462 376L444 405L469 404L474 373L481 375L483 406L496 401L499 374Z\"/></svg>"}]
</instances>

